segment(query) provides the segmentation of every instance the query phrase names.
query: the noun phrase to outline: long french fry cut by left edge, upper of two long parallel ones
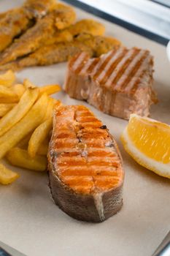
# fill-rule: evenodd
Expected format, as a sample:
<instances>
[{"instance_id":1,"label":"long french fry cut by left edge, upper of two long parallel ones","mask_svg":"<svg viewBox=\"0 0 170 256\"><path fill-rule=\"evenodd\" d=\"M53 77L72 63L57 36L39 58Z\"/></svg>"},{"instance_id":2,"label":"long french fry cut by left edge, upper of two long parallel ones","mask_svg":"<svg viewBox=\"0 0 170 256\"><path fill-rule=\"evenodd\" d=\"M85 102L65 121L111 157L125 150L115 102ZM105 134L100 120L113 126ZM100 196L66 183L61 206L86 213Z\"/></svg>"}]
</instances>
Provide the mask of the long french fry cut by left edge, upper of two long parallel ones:
<instances>
[{"instance_id":1,"label":"long french fry cut by left edge, upper of two long parallel ones","mask_svg":"<svg viewBox=\"0 0 170 256\"><path fill-rule=\"evenodd\" d=\"M7 115L3 116L0 120L0 136L4 135L11 127L13 127L23 116L26 115L28 110L34 105L39 91L36 89L27 89L20 102L10 110Z\"/></svg>"}]
</instances>

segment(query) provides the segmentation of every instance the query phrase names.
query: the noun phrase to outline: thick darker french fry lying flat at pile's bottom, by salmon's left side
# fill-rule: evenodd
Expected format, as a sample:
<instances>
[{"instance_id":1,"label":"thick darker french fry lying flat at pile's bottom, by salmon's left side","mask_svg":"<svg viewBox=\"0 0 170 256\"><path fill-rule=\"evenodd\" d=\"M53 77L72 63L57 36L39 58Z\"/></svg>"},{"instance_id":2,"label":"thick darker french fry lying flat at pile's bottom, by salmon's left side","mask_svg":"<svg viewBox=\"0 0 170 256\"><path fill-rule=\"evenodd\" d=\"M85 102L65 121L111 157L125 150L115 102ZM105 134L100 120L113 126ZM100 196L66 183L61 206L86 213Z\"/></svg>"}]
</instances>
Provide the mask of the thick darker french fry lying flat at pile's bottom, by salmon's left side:
<instances>
[{"instance_id":1,"label":"thick darker french fry lying flat at pile's bottom, by salmon's left side","mask_svg":"<svg viewBox=\"0 0 170 256\"><path fill-rule=\"evenodd\" d=\"M21 148L10 149L7 153L7 159L14 166L29 170L45 171L47 169L47 157L36 156L32 158L25 149Z\"/></svg>"}]
</instances>

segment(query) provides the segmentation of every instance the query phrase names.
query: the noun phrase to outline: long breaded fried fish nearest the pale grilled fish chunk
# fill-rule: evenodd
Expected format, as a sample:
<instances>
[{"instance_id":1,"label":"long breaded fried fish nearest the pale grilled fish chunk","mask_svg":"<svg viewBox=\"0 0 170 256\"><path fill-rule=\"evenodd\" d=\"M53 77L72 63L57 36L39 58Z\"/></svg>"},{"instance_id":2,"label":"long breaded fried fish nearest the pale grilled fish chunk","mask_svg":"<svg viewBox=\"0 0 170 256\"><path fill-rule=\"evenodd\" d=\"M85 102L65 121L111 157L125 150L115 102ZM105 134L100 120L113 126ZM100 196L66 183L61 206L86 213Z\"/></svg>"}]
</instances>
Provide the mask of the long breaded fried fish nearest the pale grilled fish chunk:
<instances>
[{"instance_id":1,"label":"long breaded fried fish nearest the pale grilled fish chunk","mask_svg":"<svg viewBox=\"0 0 170 256\"><path fill-rule=\"evenodd\" d=\"M23 67L44 66L67 61L76 53L85 52L88 56L98 56L120 46L120 41L110 37L94 37L82 34L72 42L44 45L29 56L0 67L4 69L22 69Z\"/></svg>"}]
</instances>

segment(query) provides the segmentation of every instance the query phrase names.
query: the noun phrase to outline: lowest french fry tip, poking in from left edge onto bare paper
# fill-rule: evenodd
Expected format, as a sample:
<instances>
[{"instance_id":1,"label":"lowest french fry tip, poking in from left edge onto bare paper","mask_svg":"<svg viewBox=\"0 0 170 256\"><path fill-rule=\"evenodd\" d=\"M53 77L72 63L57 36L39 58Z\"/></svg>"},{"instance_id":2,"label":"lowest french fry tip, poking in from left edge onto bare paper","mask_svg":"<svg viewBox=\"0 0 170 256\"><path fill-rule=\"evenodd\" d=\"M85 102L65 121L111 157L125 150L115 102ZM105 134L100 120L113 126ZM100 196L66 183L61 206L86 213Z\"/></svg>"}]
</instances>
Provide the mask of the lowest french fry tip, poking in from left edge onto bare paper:
<instances>
[{"instance_id":1,"label":"lowest french fry tip, poking in from left edge onto bare paper","mask_svg":"<svg viewBox=\"0 0 170 256\"><path fill-rule=\"evenodd\" d=\"M11 184L19 177L18 173L9 170L7 167L0 163L0 184Z\"/></svg>"}]
</instances>

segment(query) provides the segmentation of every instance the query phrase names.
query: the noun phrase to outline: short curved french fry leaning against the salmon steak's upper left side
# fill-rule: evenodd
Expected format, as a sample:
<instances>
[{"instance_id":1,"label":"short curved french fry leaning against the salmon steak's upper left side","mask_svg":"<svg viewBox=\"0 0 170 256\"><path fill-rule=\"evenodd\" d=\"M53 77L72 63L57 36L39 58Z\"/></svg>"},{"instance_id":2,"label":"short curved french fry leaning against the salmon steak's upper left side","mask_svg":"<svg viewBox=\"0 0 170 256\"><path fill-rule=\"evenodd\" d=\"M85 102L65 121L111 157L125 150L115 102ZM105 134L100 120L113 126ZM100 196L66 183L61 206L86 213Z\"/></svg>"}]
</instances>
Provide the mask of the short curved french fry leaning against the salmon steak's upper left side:
<instances>
[{"instance_id":1,"label":"short curved french fry leaning against the salmon steak's upper left side","mask_svg":"<svg viewBox=\"0 0 170 256\"><path fill-rule=\"evenodd\" d=\"M45 138L49 135L52 125L52 118L48 118L34 130L28 142L28 154L30 157L35 157L39 146L42 144L42 141L45 140Z\"/></svg>"}]
</instances>

